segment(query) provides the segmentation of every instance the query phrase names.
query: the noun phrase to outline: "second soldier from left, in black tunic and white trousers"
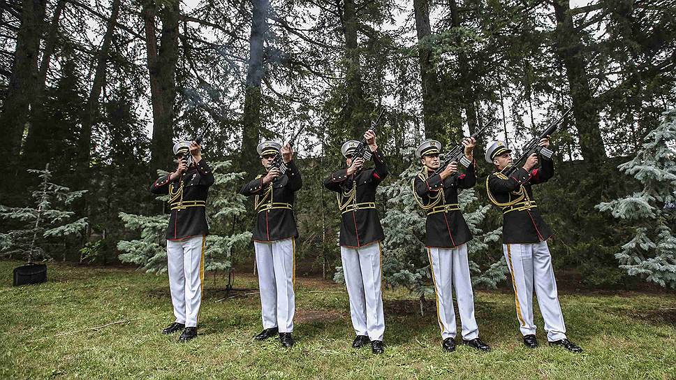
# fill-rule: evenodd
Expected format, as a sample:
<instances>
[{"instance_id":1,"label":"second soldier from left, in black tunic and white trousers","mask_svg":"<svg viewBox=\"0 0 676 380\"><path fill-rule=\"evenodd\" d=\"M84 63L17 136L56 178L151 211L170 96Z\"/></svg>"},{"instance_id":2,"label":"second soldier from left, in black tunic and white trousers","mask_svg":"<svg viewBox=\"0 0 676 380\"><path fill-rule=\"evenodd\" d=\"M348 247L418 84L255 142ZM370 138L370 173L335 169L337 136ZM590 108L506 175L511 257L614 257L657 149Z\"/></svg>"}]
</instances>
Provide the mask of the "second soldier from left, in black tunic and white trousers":
<instances>
[{"instance_id":1,"label":"second soldier from left, in black tunic and white trousers","mask_svg":"<svg viewBox=\"0 0 676 380\"><path fill-rule=\"evenodd\" d=\"M302 187L300 172L293 161L293 148L279 142L261 142L256 148L267 170L244 184L240 193L254 197L254 249L263 331L254 339L264 340L279 333L284 347L293 346L295 313L295 239L298 236L293 203ZM279 155L281 154L281 158Z\"/></svg>"}]
</instances>

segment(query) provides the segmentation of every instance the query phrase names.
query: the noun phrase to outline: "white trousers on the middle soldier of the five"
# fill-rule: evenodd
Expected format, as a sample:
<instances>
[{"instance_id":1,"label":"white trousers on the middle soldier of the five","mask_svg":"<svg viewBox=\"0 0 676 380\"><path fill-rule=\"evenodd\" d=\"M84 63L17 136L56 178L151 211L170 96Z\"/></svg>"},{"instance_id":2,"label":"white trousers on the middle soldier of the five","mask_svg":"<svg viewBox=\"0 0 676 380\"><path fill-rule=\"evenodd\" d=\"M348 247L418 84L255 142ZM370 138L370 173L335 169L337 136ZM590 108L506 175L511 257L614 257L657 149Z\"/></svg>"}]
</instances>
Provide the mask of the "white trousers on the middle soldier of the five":
<instances>
[{"instance_id":1,"label":"white trousers on the middle soldier of the five","mask_svg":"<svg viewBox=\"0 0 676 380\"><path fill-rule=\"evenodd\" d=\"M355 333L382 341L385 316L381 291L381 243L377 241L360 248L340 247L340 256Z\"/></svg>"}]
</instances>

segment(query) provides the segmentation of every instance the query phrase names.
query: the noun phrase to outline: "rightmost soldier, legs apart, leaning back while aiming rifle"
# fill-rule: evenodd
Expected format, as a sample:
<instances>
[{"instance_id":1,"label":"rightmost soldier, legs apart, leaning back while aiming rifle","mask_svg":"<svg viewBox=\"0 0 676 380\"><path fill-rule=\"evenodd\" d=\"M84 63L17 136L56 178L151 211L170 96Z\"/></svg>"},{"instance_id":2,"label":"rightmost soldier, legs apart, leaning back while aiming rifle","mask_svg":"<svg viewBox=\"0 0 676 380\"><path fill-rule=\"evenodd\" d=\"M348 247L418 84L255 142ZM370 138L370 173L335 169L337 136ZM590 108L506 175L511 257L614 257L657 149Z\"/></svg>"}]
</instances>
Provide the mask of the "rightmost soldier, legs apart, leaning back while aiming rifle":
<instances>
[{"instance_id":1,"label":"rightmost soldier, legs apart, leaning back while aiming rifle","mask_svg":"<svg viewBox=\"0 0 676 380\"><path fill-rule=\"evenodd\" d=\"M549 147L549 138L540 141ZM582 349L566 337L564 316L559 305L557 282L552 269L552 256L547 240L552 236L542 219L533 198L532 186L547 182L554 175L554 162L543 156L531 154L522 168L509 176L513 161L511 150L502 141L493 142L486 150L486 161L495 166L494 173L486 179L486 189L491 203L503 213L503 249L514 287L517 319L520 323L524 345L538 346L533 321L533 288L545 321L550 346L563 346L572 352ZM540 167L535 168L540 162Z\"/></svg>"}]
</instances>

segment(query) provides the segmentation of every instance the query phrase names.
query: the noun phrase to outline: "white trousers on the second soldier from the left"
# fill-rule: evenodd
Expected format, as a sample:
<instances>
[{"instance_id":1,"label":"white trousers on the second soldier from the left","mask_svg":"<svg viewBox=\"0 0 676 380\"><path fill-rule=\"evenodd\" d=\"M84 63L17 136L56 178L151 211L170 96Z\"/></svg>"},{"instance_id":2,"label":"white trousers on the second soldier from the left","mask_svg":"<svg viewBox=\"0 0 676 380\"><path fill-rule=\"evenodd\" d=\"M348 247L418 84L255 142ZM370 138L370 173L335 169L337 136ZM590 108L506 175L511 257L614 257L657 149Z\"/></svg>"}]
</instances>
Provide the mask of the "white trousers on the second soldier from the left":
<instances>
[{"instance_id":1,"label":"white trousers on the second soldier from the left","mask_svg":"<svg viewBox=\"0 0 676 380\"><path fill-rule=\"evenodd\" d=\"M293 331L295 313L295 239L254 242L263 328Z\"/></svg>"}]
</instances>

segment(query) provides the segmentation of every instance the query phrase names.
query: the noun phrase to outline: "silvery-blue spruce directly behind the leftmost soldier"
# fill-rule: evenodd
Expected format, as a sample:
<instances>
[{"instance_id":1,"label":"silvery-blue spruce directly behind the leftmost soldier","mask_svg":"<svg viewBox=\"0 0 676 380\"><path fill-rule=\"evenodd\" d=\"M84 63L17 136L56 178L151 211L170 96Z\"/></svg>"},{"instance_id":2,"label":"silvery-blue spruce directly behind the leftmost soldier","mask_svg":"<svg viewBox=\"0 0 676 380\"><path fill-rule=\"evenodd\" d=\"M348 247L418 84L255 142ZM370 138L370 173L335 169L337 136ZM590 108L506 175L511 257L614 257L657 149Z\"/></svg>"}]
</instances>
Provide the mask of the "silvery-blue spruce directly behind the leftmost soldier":
<instances>
[{"instance_id":1,"label":"silvery-blue spruce directly behind the leftmost soldier","mask_svg":"<svg viewBox=\"0 0 676 380\"><path fill-rule=\"evenodd\" d=\"M237 258L237 252L243 252L251 241L251 232L237 231L236 220L246 214L246 198L233 191L242 182L244 173L230 173L230 161L210 163L216 182L209 189L207 200L207 221L210 222L210 234L205 242L205 271L224 270L230 272ZM158 175L166 174L158 170ZM161 196L158 200L168 200ZM167 271L167 252L165 231L168 215L135 215L119 213L124 226L131 231L140 231L140 239L122 240L117 249L123 253L120 261L134 263L146 272L163 273ZM234 254L234 255L233 255Z\"/></svg>"}]
</instances>

